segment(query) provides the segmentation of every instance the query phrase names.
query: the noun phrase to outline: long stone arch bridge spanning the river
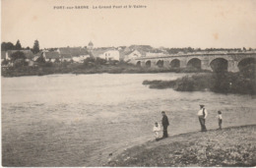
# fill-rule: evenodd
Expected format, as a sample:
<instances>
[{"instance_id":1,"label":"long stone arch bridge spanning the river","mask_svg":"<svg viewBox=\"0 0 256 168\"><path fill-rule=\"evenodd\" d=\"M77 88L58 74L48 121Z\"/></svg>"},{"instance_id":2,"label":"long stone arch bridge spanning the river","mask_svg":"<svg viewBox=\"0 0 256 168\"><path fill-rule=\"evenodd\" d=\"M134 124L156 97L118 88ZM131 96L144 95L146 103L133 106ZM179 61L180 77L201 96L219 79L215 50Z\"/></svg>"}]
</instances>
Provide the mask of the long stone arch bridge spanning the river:
<instances>
[{"instance_id":1,"label":"long stone arch bridge spanning the river","mask_svg":"<svg viewBox=\"0 0 256 168\"><path fill-rule=\"evenodd\" d=\"M140 57L130 60L130 63L141 67L152 68L187 68L215 71L224 69L238 72L239 68L256 63L256 51L247 52L209 52L175 54L161 57Z\"/></svg>"}]
</instances>

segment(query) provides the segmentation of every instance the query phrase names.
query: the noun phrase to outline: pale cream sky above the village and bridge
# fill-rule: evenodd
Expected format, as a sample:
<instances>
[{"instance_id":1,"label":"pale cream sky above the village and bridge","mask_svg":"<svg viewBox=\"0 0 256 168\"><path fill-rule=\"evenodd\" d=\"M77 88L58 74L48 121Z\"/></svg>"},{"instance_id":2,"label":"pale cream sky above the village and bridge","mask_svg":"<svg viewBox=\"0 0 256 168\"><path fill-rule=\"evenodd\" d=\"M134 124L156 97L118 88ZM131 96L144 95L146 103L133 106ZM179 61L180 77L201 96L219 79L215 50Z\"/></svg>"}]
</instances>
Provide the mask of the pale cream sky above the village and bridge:
<instances>
[{"instance_id":1,"label":"pale cream sky above the village and bridge","mask_svg":"<svg viewBox=\"0 0 256 168\"><path fill-rule=\"evenodd\" d=\"M90 9L67 9L75 6ZM91 40L96 47L256 48L255 16L255 0L2 0L1 40L32 47L37 39L40 48Z\"/></svg>"}]
</instances>

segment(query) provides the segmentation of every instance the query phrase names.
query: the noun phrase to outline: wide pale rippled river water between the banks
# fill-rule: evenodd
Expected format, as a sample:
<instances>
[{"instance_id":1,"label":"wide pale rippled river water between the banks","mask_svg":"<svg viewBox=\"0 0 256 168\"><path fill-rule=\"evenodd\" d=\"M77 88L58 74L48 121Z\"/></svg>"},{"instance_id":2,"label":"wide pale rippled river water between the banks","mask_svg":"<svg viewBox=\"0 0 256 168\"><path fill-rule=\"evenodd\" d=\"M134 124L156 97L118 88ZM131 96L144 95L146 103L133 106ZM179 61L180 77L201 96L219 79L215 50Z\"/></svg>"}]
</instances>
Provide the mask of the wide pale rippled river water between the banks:
<instances>
[{"instance_id":1,"label":"wide pale rippled river water between the banks","mask_svg":"<svg viewBox=\"0 0 256 168\"><path fill-rule=\"evenodd\" d=\"M154 140L160 111L170 136L199 131L199 104L208 129L256 124L250 95L150 89L144 80L185 74L50 75L2 78L2 145L6 166L101 166L125 148ZM112 156L109 156L112 153Z\"/></svg>"}]
</instances>

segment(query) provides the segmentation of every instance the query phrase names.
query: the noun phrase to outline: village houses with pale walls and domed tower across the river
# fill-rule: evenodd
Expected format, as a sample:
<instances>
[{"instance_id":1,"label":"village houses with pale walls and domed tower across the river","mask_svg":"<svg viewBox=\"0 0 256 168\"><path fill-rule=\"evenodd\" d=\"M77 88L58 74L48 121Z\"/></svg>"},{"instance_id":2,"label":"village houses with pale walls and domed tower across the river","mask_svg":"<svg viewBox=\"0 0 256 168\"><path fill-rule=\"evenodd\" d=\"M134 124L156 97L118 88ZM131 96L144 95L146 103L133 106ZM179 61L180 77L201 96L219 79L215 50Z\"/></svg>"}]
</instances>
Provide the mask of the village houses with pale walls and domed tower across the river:
<instances>
[{"instance_id":1,"label":"village houses with pale walls and domed tower across the river","mask_svg":"<svg viewBox=\"0 0 256 168\"><path fill-rule=\"evenodd\" d=\"M18 55L17 55L18 54ZM20 55L19 55L20 54ZM106 61L129 62L131 59L150 56L164 56L168 53L164 49L156 49L150 45L131 45L129 47L94 47L90 41L86 47L60 47L41 49L37 53L31 49L7 50L1 52L1 63L3 68L13 67L16 62L25 56L29 67L37 66L41 58L45 62L60 63L84 63L87 58L100 58ZM17 57L15 57L17 55ZM15 57L15 58L14 58Z\"/></svg>"}]
</instances>

